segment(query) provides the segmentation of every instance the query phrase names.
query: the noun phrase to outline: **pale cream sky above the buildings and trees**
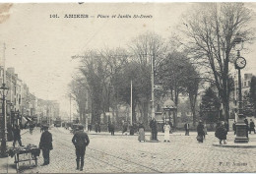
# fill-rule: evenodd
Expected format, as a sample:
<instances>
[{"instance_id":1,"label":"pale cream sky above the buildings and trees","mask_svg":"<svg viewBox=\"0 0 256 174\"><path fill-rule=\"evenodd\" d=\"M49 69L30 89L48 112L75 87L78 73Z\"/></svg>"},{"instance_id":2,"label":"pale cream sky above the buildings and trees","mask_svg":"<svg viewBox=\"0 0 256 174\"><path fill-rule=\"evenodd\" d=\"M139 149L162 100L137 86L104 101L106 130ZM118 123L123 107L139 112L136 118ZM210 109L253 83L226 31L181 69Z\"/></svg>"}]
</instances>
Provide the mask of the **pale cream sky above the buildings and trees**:
<instances>
[{"instance_id":1,"label":"pale cream sky above the buildings and trees","mask_svg":"<svg viewBox=\"0 0 256 174\"><path fill-rule=\"evenodd\" d=\"M14 67L36 97L58 100L69 112L68 84L77 72L74 55L89 49L125 47L133 37L156 31L167 38L192 3L23 3L0 5L0 50L6 44L6 67ZM256 12L256 3L247 7ZM59 18L50 18L56 15ZM68 19L65 14L95 18ZM152 15L151 19L96 18L98 15ZM255 21L252 26L256 27ZM256 75L256 44L246 45L244 72ZM2 56L0 56L1 58Z\"/></svg>"}]
</instances>

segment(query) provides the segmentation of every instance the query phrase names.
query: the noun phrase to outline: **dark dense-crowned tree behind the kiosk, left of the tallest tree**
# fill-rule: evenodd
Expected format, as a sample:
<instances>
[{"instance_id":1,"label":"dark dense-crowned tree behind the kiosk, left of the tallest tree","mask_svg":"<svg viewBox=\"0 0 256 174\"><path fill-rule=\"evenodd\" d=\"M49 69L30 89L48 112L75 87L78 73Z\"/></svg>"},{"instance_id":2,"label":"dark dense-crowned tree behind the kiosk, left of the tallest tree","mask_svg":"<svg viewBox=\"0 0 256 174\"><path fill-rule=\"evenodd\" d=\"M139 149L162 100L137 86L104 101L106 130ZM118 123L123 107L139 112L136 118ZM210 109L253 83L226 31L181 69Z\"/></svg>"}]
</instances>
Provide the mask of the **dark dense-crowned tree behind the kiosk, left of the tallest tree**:
<instances>
[{"instance_id":1,"label":"dark dense-crowned tree behind the kiosk, left of the tallest tree","mask_svg":"<svg viewBox=\"0 0 256 174\"><path fill-rule=\"evenodd\" d=\"M193 122L196 122L195 104L198 94L199 75L189 62L187 54L173 51L163 59L158 69L158 79L165 90L163 95L170 92L171 99L178 107L180 93L187 93L190 100L190 107L193 113ZM177 117L173 117L174 127L177 125Z\"/></svg>"}]
</instances>

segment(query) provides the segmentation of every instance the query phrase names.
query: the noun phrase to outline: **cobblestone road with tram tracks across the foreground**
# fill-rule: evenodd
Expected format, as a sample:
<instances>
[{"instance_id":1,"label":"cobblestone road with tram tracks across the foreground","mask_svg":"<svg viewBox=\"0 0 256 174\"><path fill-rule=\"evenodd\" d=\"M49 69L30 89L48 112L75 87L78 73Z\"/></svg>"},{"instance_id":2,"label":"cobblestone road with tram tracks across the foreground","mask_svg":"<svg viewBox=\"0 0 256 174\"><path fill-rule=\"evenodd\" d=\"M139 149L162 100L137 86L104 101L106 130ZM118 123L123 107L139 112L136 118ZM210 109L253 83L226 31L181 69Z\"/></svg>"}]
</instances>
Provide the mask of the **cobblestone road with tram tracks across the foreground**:
<instances>
[{"instance_id":1,"label":"cobblestone road with tram tracks across the foreground","mask_svg":"<svg viewBox=\"0 0 256 174\"><path fill-rule=\"evenodd\" d=\"M100 133L90 134L91 144L86 151L85 170L75 170L75 148L72 136L63 128L52 128L53 150L50 164L43 163L40 155L37 167L21 166L22 173L160 173L160 172L256 172L255 148L230 148L213 146L218 140L210 132L204 144L196 141L196 133L184 136L182 133L170 135L170 143L139 143L137 136L110 136ZM25 145L38 145L39 130L23 136ZM146 139L150 139L147 134ZM228 141L234 136L228 133ZM256 135L250 136L256 142ZM9 160L13 160L12 158Z\"/></svg>"}]
</instances>

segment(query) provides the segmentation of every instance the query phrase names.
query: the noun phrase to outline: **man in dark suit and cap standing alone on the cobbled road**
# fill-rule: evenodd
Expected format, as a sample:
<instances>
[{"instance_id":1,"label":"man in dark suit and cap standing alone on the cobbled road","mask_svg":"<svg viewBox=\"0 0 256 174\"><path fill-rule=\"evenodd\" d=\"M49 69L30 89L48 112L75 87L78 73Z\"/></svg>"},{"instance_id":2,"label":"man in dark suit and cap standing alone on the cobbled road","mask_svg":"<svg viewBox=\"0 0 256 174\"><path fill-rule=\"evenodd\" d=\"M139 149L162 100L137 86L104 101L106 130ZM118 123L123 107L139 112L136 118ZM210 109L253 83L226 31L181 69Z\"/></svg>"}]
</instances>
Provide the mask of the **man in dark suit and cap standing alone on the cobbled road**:
<instances>
[{"instance_id":1,"label":"man in dark suit and cap standing alone on the cobbled road","mask_svg":"<svg viewBox=\"0 0 256 174\"><path fill-rule=\"evenodd\" d=\"M82 125L79 126L79 131L74 135L72 139L72 143L76 147L76 161L77 161L77 170L83 171L84 163L85 163L85 153L86 146L90 144L89 137L87 133L84 132L84 127ZM79 168L80 164L80 168Z\"/></svg>"}]
</instances>

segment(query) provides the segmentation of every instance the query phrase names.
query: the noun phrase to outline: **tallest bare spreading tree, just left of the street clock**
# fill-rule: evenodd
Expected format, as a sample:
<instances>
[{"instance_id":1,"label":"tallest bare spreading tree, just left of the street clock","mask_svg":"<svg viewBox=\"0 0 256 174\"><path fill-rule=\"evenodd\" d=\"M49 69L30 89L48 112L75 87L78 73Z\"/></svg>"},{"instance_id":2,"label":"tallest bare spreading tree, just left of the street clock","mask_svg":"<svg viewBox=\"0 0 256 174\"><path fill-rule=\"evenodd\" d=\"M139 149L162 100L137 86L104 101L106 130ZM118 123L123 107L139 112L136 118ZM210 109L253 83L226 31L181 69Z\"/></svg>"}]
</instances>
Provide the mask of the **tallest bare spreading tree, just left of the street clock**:
<instances>
[{"instance_id":1,"label":"tallest bare spreading tree, just left of the street clock","mask_svg":"<svg viewBox=\"0 0 256 174\"><path fill-rule=\"evenodd\" d=\"M187 46L195 55L195 62L210 70L207 76L213 75L228 119L228 64L233 40L237 33L245 40L252 38L252 29L247 26L252 13L242 3L204 3L189 13L184 21L184 31L190 39Z\"/></svg>"}]
</instances>

